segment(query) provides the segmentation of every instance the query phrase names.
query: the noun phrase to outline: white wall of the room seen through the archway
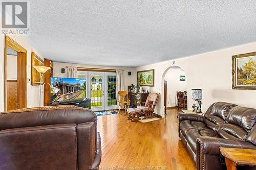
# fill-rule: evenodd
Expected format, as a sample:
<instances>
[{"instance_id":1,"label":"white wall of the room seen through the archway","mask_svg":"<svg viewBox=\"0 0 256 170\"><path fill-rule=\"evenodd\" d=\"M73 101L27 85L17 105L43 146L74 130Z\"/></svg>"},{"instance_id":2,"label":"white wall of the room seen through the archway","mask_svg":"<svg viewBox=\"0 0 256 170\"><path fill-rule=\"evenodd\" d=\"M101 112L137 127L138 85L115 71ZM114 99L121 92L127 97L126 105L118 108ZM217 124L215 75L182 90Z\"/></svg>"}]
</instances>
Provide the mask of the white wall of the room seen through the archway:
<instances>
[{"instance_id":1,"label":"white wall of the room seen through the archway","mask_svg":"<svg viewBox=\"0 0 256 170\"><path fill-rule=\"evenodd\" d=\"M180 81L180 76L186 76L179 68L170 68L164 77L167 81L166 107L178 106L177 91L187 91L187 82Z\"/></svg>"}]
</instances>

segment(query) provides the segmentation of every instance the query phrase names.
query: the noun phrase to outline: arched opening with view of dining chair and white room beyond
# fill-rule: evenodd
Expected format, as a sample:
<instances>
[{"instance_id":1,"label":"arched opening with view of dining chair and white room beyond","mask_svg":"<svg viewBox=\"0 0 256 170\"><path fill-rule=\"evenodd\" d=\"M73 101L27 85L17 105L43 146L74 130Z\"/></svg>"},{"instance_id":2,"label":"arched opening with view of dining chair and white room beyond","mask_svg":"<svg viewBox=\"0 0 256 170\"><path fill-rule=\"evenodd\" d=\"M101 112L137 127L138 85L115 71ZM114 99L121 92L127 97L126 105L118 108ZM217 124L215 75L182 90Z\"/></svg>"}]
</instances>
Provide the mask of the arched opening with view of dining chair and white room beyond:
<instances>
[{"instance_id":1,"label":"arched opening with view of dining chair and white room beyond","mask_svg":"<svg viewBox=\"0 0 256 170\"><path fill-rule=\"evenodd\" d=\"M163 94L164 111L165 109L187 109L187 78L181 67L171 66L165 70Z\"/></svg>"}]
</instances>

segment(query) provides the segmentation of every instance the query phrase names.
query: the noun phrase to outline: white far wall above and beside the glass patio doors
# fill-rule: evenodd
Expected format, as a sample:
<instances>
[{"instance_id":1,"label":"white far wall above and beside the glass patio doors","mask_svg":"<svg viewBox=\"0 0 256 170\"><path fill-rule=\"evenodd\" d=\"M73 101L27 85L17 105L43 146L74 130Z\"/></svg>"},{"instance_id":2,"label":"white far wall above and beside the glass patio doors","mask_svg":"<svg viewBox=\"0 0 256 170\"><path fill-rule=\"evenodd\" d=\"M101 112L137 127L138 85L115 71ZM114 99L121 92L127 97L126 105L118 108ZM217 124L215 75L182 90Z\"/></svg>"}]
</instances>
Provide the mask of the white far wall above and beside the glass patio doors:
<instances>
[{"instance_id":1,"label":"white far wall above and beside the glass patio doors","mask_svg":"<svg viewBox=\"0 0 256 170\"><path fill-rule=\"evenodd\" d=\"M97 66L97 65L83 65L83 64L53 62L53 77L68 77L66 66L85 67L85 68L123 69L124 89L127 90L128 86L130 86L131 84L137 84L136 68L132 68L132 67L112 67L112 66ZM61 74L61 68L65 68L65 74ZM132 72L131 76L128 76L128 71Z\"/></svg>"}]
</instances>

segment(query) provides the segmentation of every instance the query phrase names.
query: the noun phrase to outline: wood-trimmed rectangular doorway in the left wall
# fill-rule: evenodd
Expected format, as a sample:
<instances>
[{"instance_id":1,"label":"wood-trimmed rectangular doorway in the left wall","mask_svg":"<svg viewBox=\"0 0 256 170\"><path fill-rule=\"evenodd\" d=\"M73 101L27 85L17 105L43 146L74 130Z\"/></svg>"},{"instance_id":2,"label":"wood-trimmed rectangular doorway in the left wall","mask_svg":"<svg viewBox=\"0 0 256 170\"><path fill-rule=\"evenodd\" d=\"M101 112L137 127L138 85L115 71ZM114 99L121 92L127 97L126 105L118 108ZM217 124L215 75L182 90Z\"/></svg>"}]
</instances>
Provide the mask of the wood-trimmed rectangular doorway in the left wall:
<instances>
[{"instance_id":1,"label":"wood-trimmed rectangular doorway in the left wall","mask_svg":"<svg viewBox=\"0 0 256 170\"><path fill-rule=\"evenodd\" d=\"M5 36L5 111L27 107L27 51Z\"/></svg>"}]
</instances>

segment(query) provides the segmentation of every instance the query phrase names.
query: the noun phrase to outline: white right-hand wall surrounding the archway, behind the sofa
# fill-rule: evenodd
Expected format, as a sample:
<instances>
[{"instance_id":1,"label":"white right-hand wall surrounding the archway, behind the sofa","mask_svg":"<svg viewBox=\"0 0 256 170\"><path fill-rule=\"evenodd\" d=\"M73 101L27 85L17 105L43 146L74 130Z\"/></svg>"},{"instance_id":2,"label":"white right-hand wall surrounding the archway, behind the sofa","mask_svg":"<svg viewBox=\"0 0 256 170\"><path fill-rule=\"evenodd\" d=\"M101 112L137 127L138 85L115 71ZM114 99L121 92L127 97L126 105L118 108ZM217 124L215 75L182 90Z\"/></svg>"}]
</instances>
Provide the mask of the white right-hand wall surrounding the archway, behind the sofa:
<instances>
[{"instance_id":1,"label":"white right-hand wall surrounding the archway, behind the sofa","mask_svg":"<svg viewBox=\"0 0 256 170\"><path fill-rule=\"evenodd\" d=\"M223 50L176 59L174 65L180 66L186 73L188 89L188 109L196 103L191 99L191 89L202 88L202 110L217 101L230 102L240 106L256 108L256 90L232 89L232 55L256 51L256 42L225 48ZM156 113L163 113L163 74L173 65L173 60L138 67L137 70L155 69L155 87L151 91L160 93Z\"/></svg>"}]
</instances>

